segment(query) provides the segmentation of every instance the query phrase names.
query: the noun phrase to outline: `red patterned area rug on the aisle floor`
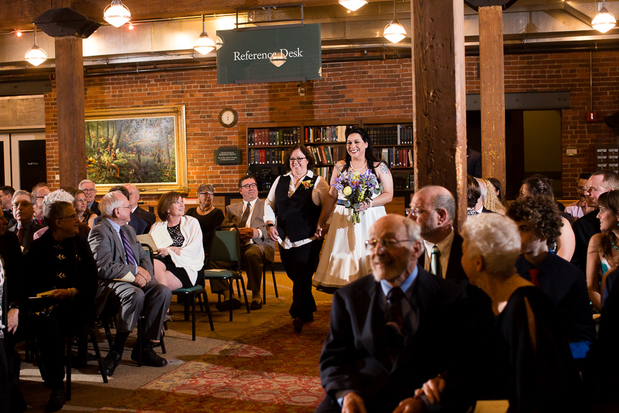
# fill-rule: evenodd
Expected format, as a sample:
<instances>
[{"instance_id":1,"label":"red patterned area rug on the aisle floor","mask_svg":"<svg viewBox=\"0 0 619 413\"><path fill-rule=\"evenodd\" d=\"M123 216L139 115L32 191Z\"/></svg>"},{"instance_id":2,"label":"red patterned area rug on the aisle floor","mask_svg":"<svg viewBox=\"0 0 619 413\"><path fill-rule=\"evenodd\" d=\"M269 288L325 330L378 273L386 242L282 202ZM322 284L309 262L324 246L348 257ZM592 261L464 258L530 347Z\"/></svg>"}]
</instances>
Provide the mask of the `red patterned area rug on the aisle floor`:
<instances>
[{"instance_id":1,"label":"red patterned area rug on the aisle floor","mask_svg":"<svg viewBox=\"0 0 619 413\"><path fill-rule=\"evenodd\" d=\"M287 314L274 317L97 412L314 412L329 308L318 304L301 334Z\"/></svg>"}]
</instances>

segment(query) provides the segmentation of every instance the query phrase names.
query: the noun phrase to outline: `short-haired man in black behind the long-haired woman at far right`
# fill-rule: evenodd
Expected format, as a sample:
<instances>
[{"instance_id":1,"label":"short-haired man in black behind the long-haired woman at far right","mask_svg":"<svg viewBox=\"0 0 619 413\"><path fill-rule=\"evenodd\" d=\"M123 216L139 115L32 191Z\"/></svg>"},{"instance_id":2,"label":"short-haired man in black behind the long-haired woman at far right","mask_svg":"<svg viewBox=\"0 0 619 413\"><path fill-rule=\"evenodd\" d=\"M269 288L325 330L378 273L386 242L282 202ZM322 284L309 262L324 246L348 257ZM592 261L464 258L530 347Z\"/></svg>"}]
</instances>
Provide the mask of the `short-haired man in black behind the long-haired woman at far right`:
<instances>
[{"instance_id":1,"label":"short-haired man in black behind the long-haired woman at far right","mask_svg":"<svg viewBox=\"0 0 619 413\"><path fill-rule=\"evenodd\" d=\"M582 218L574 222L572 229L576 238L576 248L572 255L572 264L580 268L580 271L587 271L587 248L591 237L600 233L600 220L598 219L598 198L602 193L619 189L619 175L613 171L597 171L589 178L589 189L585 191L587 196L587 207L595 208L594 211L587 213Z\"/></svg>"}]
</instances>

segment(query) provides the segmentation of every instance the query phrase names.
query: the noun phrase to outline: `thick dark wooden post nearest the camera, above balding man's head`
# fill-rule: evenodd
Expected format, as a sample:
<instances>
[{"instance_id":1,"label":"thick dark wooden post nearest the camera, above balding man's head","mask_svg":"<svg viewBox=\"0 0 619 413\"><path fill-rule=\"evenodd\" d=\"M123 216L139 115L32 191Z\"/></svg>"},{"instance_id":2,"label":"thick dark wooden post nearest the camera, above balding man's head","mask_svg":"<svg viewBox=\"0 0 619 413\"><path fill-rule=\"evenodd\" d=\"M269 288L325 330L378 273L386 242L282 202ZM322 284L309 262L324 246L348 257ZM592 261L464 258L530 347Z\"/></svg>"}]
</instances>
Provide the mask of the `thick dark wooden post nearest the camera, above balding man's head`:
<instances>
[{"instance_id":1,"label":"thick dark wooden post nearest the camera, above balding man's head","mask_svg":"<svg viewBox=\"0 0 619 413\"><path fill-rule=\"evenodd\" d=\"M415 189L441 185L466 218L464 3L411 1Z\"/></svg>"}]
</instances>

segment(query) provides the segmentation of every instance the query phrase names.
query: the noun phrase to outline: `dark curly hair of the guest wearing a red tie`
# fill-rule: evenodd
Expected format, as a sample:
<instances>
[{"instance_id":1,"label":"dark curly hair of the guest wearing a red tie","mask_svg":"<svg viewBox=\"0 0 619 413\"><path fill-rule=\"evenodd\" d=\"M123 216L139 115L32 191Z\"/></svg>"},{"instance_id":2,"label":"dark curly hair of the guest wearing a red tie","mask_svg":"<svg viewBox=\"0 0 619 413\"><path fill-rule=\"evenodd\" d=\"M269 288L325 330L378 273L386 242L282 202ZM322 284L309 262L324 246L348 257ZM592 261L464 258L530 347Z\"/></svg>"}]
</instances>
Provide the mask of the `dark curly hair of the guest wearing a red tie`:
<instances>
[{"instance_id":1,"label":"dark curly hair of the guest wearing a red tie","mask_svg":"<svg viewBox=\"0 0 619 413\"><path fill-rule=\"evenodd\" d=\"M528 221L533 231L548 246L552 246L561 235L561 214L552 198L545 196L525 196L512 202L508 217L512 220Z\"/></svg>"}]
</instances>

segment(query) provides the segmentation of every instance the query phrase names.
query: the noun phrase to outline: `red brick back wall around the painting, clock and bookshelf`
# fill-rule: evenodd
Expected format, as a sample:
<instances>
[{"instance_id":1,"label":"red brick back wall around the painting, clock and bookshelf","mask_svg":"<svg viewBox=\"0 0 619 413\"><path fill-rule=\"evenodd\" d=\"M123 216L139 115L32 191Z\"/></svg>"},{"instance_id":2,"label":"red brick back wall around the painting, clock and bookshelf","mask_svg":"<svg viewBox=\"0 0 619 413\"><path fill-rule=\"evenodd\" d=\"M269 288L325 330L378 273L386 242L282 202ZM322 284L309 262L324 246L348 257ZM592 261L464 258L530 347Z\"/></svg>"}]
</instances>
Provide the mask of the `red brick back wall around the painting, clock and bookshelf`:
<instances>
[{"instance_id":1,"label":"red brick back wall around the painting, clock and bookshelf","mask_svg":"<svg viewBox=\"0 0 619 413\"><path fill-rule=\"evenodd\" d=\"M475 57L466 59L466 89L479 93ZM619 52L593 53L594 110L598 119L619 110ZM572 108L563 112L563 191L575 197L572 181L594 167L596 142L614 142L603 120L585 122L589 110L589 53L506 56L506 92L569 90ZM85 79L86 110L140 106L185 105L189 195L203 182L217 191L235 191L236 180L246 171L248 123L283 123L354 118L411 118L411 60L329 63L323 80L303 83L217 85L215 70L131 74ZM217 116L222 108L239 112L237 126L226 129ZM55 85L45 96L47 180L58 187L58 139ZM243 164L215 165L213 150L236 145L243 149ZM576 147L578 157L567 158L565 149ZM146 197L146 200L151 200Z\"/></svg>"}]
</instances>

